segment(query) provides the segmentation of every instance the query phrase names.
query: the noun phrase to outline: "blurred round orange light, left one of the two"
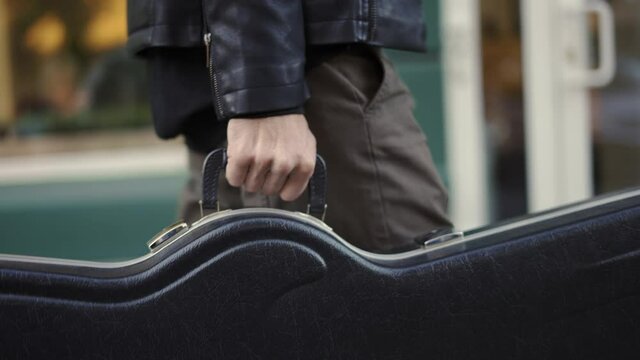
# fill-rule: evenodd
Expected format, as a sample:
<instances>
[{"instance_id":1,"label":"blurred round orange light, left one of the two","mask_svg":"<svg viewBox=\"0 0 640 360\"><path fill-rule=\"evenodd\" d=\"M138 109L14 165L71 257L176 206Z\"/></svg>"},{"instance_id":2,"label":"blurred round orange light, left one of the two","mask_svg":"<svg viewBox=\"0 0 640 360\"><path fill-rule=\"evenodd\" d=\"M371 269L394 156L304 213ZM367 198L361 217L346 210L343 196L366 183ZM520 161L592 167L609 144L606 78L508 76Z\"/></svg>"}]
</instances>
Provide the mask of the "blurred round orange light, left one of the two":
<instances>
[{"instance_id":1,"label":"blurred round orange light, left one of the two","mask_svg":"<svg viewBox=\"0 0 640 360\"><path fill-rule=\"evenodd\" d=\"M31 25L24 36L25 45L38 55L53 55L67 38L67 29L57 16L47 13Z\"/></svg>"}]
</instances>

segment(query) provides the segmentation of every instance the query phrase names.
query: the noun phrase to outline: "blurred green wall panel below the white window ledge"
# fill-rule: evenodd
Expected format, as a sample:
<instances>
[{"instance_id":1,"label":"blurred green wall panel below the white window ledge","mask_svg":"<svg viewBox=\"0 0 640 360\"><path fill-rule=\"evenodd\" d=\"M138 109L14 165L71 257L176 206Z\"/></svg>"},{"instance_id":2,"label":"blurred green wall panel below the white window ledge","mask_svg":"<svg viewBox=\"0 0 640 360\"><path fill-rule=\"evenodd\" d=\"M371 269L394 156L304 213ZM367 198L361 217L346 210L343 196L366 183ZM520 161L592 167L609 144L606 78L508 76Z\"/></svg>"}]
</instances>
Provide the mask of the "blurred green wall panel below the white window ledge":
<instances>
[{"instance_id":1,"label":"blurred green wall panel below the white window ledge","mask_svg":"<svg viewBox=\"0 0 640 360\"><path fill-rule=\"evenodd\" d=\"M122 260L175 221L184 176L0 187L0 253Z\"/></svg>"}]
</instances>

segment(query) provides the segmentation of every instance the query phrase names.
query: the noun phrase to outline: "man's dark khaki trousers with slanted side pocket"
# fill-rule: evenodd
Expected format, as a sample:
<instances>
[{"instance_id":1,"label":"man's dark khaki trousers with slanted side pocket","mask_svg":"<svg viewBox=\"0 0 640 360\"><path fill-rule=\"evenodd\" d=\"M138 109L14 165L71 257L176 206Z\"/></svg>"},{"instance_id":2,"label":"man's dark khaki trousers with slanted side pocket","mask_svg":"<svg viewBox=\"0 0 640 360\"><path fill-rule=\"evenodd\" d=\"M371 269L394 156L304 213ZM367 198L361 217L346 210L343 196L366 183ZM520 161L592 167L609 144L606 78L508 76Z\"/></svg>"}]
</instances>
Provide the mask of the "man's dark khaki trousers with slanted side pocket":
<instances>
[{"instance_id":1,"label":"man's dark khaki trousers with slanted side pocket","mask_svg":"<svg viewBox=\"0 0 640 360\"><path fill-rule=\"evenodd\" d=\"M379 253L407 249L417 235L451 227L447 193L413 117L412 97L391 63L374 49L354 47L314 66L306 80L312 95L305 116L328 168L326 223L353 245ZM204 157L189 155L180 211L187 221L200 216ZM285 203L224 179L219 194L222 209L306 209L306 194Z\"/></svg>"}]
</instances>

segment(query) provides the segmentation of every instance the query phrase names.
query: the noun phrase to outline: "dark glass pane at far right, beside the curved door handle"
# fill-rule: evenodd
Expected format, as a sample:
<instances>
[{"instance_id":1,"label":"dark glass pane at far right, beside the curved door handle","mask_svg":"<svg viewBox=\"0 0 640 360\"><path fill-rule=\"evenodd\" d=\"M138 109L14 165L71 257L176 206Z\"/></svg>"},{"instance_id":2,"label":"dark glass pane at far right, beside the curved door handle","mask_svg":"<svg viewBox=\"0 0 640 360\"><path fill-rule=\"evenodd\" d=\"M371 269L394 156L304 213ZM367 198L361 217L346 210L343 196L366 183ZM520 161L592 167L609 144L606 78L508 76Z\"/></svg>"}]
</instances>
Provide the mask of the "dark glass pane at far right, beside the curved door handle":
<instances>
[{"instance_id":1,"label":"dark glass pane at far right, beside the curved door handle","mask_svg":"<svg viewBox=\"0 0 640 360\"><path fill-rule=\"evenodd\" d=\"M615 19L616 72L589 94L597 194L640 185L640 1L608 5ZM602 28L590 25L590 37L597 38Z\"/></svg>"}]
</instances>

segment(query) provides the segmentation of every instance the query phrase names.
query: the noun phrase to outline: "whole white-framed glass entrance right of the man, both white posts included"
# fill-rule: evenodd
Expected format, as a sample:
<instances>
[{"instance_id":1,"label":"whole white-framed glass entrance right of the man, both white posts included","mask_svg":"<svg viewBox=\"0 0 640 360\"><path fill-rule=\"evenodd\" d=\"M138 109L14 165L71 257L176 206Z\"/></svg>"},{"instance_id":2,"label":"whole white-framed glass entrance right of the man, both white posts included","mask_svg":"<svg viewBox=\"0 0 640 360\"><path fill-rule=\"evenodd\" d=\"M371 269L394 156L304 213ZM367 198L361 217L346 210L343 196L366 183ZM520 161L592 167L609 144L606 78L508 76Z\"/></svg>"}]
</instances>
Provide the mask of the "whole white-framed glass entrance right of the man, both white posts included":
<instances>
[{"instance_id":1,"label":"whole white-framed glass entrance right of the man, both white posts included","mask_svg":"<svg viewBox=\"0 0 640 360\"><path fill-rule=\"evenodd\" d=\"M455 0L442 11L459 228L640 185L640 0Z\"/></svg>"}]
</instances>

